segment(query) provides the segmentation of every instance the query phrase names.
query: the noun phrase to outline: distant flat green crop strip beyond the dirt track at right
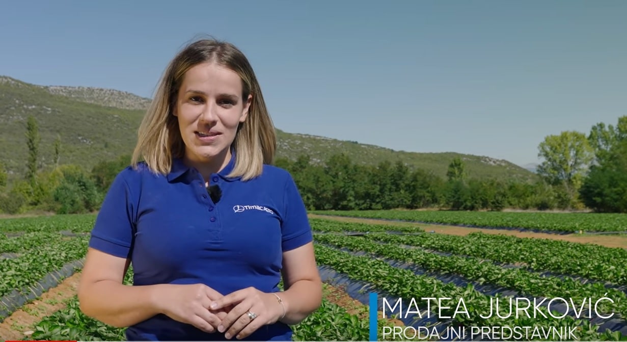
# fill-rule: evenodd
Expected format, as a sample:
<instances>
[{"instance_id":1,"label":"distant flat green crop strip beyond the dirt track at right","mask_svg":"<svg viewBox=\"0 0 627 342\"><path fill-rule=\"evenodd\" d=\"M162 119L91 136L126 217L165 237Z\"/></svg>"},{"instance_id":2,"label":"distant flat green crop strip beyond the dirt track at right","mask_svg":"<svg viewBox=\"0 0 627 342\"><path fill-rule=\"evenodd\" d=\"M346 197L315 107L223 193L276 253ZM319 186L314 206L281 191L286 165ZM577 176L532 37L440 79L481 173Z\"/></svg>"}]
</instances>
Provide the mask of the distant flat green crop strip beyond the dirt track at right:
<instances>
[{"instance_id":1,"label":"distant flat green crop strip beyond the dirt track at right","mask_svg":"<svg viewBox=\"0 0 627 342\"><path fill-rule=\"evenodd\" d=\"M619 213L512 213L503 211L315 210L311 213L408 222L554 232L627 232L627 215Z\"/></svg>"}]
</instances>

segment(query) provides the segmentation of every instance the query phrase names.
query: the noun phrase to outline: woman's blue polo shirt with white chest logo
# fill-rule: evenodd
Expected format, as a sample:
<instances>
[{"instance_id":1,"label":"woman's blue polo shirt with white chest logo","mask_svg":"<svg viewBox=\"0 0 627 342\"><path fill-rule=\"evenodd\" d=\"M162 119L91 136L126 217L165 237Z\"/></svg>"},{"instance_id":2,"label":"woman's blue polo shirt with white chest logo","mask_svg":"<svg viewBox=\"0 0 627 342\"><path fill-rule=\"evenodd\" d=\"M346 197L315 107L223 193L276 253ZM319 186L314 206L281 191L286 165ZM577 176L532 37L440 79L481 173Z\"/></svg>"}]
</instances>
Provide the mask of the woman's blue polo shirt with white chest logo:
<instances>
[{"instance_id":1,"label":"woman's blue polo shirt with white chest logo","mask_svg":"<svg viewBox=\"0 0 627 342\"><path fill-rule=\"evenodd\" d=\"M292 176L264 165L257 178L211 175L221 188L214 203L203 176L174 159L167 176L145 164L113 181L98 213L90 247L129 257L134 285L203 283L221 294L253 286L279 291L282 253L312 241L307 210ZM225 340L159 314L127 329L129 341ZM291 340L287 324L263 326L248 340Z\"/></svg>"}]
</instances>

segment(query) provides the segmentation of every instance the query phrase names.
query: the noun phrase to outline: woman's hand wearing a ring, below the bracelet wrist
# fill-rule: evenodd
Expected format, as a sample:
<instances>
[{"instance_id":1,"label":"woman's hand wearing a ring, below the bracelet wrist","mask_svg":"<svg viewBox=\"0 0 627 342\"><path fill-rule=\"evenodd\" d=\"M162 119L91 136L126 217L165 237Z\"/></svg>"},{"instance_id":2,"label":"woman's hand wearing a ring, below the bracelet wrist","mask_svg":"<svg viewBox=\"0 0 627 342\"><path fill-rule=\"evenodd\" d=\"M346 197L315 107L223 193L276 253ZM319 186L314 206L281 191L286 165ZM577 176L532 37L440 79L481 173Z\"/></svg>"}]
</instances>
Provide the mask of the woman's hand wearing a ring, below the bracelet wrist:
<instances>
[{"instance_id":1,"label":"woman's hand wearing a ring, below the bracelet wrist","mask_svg":"<svg viewBox=\"0 0 627 342\"><path fill-rule=\"evenodd\" d=\"M232 309L218 326L218 331L226 331L224 337L229 339L233 336L245 338L261 326L275 323L283 316L283 307L277 297L255 287L247 287L223 296L210 304L209 309L229 309L229 306ZM251 318L251 314L255 316Z\"/></svg>"}]
</instances>

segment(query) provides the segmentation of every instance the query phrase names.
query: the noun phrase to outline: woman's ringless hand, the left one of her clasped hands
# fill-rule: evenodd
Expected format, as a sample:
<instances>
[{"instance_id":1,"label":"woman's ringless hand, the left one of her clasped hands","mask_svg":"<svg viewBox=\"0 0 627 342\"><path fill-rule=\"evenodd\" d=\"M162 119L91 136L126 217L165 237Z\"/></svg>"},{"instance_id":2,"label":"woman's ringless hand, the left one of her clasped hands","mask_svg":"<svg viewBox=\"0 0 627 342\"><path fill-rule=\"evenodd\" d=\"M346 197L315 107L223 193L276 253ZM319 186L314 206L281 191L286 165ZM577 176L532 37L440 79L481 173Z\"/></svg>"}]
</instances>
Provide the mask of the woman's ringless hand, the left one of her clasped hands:
<instances>
[{"instance_id":1,"label":"woman's ringless hand, the left one of her clasped hands","mask_svg":"<svg viewBox=\"0 0 627 342\"><path fill-rule=\"evenodd\" d=\"M228 304L210 309L211 302L223 297L218 291L204 284L167 284L157 292L159 311L181 323L191 324L207 333L216 332L223 319L228 318Z\"/></svg>"}]
</instances>

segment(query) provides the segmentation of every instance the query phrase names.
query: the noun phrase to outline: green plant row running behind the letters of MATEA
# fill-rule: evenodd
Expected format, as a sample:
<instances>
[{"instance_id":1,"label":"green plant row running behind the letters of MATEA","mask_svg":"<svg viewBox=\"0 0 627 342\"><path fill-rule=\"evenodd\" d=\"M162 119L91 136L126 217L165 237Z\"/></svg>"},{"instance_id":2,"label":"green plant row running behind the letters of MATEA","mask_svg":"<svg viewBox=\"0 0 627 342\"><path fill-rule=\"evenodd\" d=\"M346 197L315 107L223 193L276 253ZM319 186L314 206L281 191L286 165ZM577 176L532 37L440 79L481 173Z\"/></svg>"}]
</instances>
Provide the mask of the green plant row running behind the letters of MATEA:
<instances>
[{"instance_id":1,"label":"green plant row running behind the letters of MATEA","mask_svg":"<svg viewBox=\"0 0 627 342\"><path fill-rule=\"evenodd\" d=\"M496 314L488 318L482 318L489 313L490 301L495 297L486 296L474 289L472 286L465 288L455 286L450 283L443 283L433 277L426 275L416 275L411 270L392 267L383 260L373 259L368 256L355 256L347 252L342 252L335 248L326 247L324 245L316 245L316 258L320 264L329 265L337 272L346 274L351 279L363 281L372 284L378 291L387 292L391 296L403 298L409 303L411 298L416 299L420 303L421 309L427 307L423 298L449 298L443 302L444 306L439 307L438 302L431 302L431 315L447 316L452 318L456 324L463 326L507 326L507 327L564 327L577 329L577 339L582 340L617 340L621 338L619 332L599 332L598 326L591 324L586 319L574 319L566 316L561 319L552 318L543 308L542 311L547 317L533 314L528 317L525 314L516 317L515 314L508 318L500 318ZM507 297L499 296L501 300ZM456 312L456 308L460 301L465 302L465 313ZM446 307L445 307L446 306ZM500 307L500 313L507 315L505 311L507 306ZM440 310L440 311L438 311ZM432 316L433 317L433 316ZM541 340L549 340L542 336Z\"/></svg>"}]
</instances>

